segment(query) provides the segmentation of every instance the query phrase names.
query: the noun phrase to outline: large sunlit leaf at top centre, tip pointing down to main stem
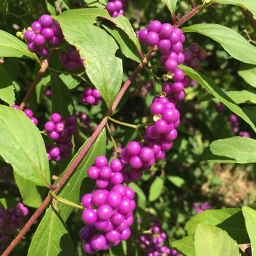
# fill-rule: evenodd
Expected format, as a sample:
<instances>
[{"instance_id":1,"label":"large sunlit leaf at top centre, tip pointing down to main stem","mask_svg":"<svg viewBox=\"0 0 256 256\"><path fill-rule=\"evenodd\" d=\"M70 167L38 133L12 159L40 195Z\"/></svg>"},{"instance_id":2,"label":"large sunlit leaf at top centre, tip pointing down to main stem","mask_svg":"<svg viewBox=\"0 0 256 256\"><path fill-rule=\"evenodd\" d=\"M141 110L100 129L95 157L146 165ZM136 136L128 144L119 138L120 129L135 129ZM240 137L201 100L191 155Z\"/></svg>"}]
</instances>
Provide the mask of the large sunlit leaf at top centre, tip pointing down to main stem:
<instances>
[{"instance_id":1,"label":"large sunlit leaf at top centre, tip pointing down to main stem","mask_svg":"<svg viewBox=\"0 0 256 256\"><path fill-rule=\"evenodd\" d=\"M105 30L92 25L96 11L103 15L105 10L92 8L65 11L55 18L60 22L65 40L74 45L85 59L86 73L92 84L111 108L121 87L123 67L115 56L117 43Z\"/></svg>"}]
</instances>

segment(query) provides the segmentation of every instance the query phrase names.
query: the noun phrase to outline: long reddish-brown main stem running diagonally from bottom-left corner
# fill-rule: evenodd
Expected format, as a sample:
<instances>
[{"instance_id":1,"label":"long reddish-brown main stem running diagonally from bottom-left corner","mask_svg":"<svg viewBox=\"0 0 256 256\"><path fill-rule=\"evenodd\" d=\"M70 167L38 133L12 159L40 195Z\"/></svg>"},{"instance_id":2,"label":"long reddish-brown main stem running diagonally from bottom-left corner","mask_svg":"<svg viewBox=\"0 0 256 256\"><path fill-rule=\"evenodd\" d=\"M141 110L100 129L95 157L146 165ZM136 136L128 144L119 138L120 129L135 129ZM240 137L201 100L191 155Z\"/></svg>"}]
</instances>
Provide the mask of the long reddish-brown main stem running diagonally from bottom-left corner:
<instances>
[{"instance_id":1,"label":"long reddish-brown main stem running diagonally from bottom-left corner","mask_svg":"<svg viewBox=\"0 0 256 256\"><path fill-rule=\"evenodd\" d=\"M150 60L150 58L153 55L154 55L154 53L149 55L146 59L143 59L143 61L139 65L137 65L136 69L133 71L133 73L131 74L129 79L127 79L125 84L123 84L123 87L121 88L119 94L117 95L117 98L115 99L115 101L113 103L113 108L110 111L111 113L114 113L114 111L117 108L117 105L119 104L123 94L125 93L125 91L129 87L129 85L131 84L133 79L135 79L137 73L139 73L139 71L141 71L141 69L143 69L143 67L145 65L147 65L148 61ZM63 177L61 177L59 182L55 185L55 194L59 193L59 191L61 190L61 187L63 187L63 185L67 182L67 180L69 179L71 174L73 174L73 172L75 171L75 168L77 167L79 162L81 162L81 160L84 158L84 156L86 155L86 153L88 152L88 150L92 146L92 143L94 143L94 141L96 140L96 138L98 137L98 135L100 134L100 132L102 131L104 126L106 125L107 121L108 121L107 117L104 117L104 119L102 119L100 125L98 125L97 129L94 131L94 133L90 137L88 143L86 143L84 148L82 148L81 152L79 152L79 154L77 155L77 158L75 158L73 163L69 166L69 168L67 169L67 171L63 175ZM34 222L36 221L38 216L40 216L40 214L42 214L43 210L47 207L47 205L49 205L51 200L52 200L51 195L48 195L48 197L46 197L46 199L44 199L44 201L42 202L42 205L40 205L38 210L36 210L36 212L32 215L30 220L28 220L28 222L26 223L24 228L22 228L22 230L20 231L18 236L16 236L13 239L13 241L11 242L11 244L9 245L9 247L7 247L7 249L3 253L3 256L9 255L9 253L11 253L11 251L13 251L13 249L16 247L16 245L18 245L18 243L22 239L22 237L28 232L28 230L30 229L32 224L34 224Z\"/></svg>"}]
</instances>

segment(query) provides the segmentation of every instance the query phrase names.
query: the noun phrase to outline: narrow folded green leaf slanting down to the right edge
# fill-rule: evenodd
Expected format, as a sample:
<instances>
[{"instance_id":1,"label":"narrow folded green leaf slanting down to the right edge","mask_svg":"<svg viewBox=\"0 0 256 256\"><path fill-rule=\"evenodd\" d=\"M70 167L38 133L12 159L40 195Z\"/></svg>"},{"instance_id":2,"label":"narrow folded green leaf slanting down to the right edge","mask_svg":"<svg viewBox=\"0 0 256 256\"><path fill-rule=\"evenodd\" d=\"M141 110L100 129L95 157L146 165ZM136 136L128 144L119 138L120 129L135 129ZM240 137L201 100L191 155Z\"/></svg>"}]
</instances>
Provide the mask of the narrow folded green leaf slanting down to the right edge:
<instances>
[{"instance_id":1,"label":"narrow folded green leaf slanting down to the right edge","mask_svg":"<svg viewBox=\"0 0 256 256\"><path fill-rule=\"evenodd\" d=\"M255 55L256 56L256 55ZM186 75L189 75L192 79L194 79L198 84L201 84L208 92L210 92L214 97L218 98L220 102L222 102L225 106L227 106L232 112L245 120L254 131L256 131L256 127L253 122L247 117L247 115L243 112L243 110L235 104L235 102L229 98L225 92L223 92L218 86L212 82L212 80L205 75L191 69L191 67L179 66Z\"/></svg>"}]
</instances>

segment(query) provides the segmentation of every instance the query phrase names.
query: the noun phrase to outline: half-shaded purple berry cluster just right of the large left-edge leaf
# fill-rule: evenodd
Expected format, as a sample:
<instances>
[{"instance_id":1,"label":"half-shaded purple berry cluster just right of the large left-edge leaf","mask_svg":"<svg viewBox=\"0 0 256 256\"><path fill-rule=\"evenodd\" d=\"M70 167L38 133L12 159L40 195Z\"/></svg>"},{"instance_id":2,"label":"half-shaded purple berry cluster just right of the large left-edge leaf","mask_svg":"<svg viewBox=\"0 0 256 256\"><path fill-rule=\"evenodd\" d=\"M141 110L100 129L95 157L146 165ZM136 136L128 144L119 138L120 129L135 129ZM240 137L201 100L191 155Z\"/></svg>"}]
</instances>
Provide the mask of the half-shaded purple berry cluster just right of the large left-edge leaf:
<instances>
[{"instance_id":1,"label":"half-shaded purple berry cluster just right of the large left-edge leaf","mask_svg":"<svg viewBox=\"0 0 256 256\"><path fill-rule=\"evenodd\" d=\"M76 131L76 122L77 118L73 115L69 116L67 120L62 120L59 113L53 113L51 121L45 123L45 131L48 132L49 137L55 142L53 146L46 146L49 161L58 162L62 158L69 157L72 149L71 138Z\"/></svg>"}]
</instances>

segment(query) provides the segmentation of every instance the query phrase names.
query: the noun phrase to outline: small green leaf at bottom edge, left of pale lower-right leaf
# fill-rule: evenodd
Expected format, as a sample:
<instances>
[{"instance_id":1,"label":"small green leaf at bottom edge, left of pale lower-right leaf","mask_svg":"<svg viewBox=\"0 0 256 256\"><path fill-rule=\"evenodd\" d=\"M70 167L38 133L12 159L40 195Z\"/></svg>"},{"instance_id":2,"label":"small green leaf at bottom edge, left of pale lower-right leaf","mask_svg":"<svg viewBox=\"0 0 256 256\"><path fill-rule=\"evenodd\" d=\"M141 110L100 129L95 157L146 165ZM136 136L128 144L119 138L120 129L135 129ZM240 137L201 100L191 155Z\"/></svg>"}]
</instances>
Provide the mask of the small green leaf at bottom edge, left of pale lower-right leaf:
<instances>
[{"instance_id":1,"label":"small green leaf at bottom edge, left of pale lower-right leaf","mask_svg":"<svg viewBox=\"0 0 256 256\"><path fill-rule=\"evenodd\" d=\"M182 239L172 242L172 247L185 256L196 256L194 240L194 235L191 234L190 236L185 236Z\"/></svg>"}]
</instances>

